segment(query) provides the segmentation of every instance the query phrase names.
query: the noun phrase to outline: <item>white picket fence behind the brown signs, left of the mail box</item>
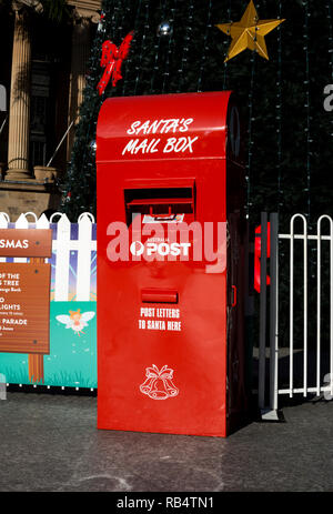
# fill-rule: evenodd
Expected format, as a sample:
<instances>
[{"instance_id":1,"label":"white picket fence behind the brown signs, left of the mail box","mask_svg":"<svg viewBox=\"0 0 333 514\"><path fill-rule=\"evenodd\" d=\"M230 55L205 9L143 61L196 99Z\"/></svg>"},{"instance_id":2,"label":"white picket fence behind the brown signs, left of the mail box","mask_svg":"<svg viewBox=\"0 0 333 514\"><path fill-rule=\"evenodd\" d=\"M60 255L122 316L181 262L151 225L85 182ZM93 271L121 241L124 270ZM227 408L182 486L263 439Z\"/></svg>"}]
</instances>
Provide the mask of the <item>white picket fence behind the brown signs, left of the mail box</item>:
<instances>
[{"instance_id":1,"label":"white picket fence behind the brown signs, left of the mail box","mask_svg":"<svg viewBox=\"0 0 333 514\"><path fill-rule=\"evenodd\" d=\"M56 216L61 216L57 223ZM29 222L29 218L33 222ZM52 259L46 262L52 263L52 296L53 301L90 301L92 300L92 281L95 276L97 241L93 234L95 228L94 218L90 213L83 213L78 219L78 230L73 231L73 223L65 214L54 213L50 221L44 214L39 219L32 212L21 214L16 223L10 223L7 213L0 212L0 229L53 229ZM73 239L72 234L77 232ZM54 233L57 236L54 238ZM95 231L94 231L95 233ZM77 269L74 278L71 274L71 254L77 252ZM94 254L92 254L94 252ZM27 262L27 258L13 258L13 262ZM0 258L0 262L10 262L8 258ZM74 282L74 285L73 285ZM74 288L74 291L73 291Z\"/></svg>"}]
</instances>

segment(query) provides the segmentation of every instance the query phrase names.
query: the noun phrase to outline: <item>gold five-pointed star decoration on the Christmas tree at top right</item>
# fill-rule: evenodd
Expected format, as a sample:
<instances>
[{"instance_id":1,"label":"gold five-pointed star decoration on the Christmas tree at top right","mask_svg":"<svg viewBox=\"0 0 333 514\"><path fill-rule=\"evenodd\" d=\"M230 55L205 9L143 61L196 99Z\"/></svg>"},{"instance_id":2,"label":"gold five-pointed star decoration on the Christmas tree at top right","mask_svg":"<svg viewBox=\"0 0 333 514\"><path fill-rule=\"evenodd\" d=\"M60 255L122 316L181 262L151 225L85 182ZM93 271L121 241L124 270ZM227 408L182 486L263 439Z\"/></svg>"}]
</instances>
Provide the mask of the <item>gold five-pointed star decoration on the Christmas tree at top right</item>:
<instances>
[{"instance_id":1,"label":"gold five-pointed star decoration on the Christmas tree at top right","mask_svg":"<svg viewBox=\"0 0 333 514\"><path fill-rule=\"evenodd\" d=\"M251 0L241 21L216 24L222 32L232 38L224 62L243 52L246 48L255 50L261 57L269 60L264 37L283 21L285 20L259 20L256 9Z\"/></svg>"}]
</instances>

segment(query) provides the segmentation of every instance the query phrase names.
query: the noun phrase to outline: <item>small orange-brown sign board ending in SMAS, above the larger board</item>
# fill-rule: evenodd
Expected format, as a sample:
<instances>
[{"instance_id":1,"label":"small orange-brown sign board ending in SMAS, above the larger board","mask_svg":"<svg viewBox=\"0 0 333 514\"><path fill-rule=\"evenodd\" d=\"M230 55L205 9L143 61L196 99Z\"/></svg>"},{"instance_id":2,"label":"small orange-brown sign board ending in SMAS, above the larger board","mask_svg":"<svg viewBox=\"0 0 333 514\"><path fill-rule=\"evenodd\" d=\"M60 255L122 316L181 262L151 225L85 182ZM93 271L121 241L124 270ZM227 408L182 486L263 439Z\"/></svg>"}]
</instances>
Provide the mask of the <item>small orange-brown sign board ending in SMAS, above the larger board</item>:
<instances>
[{"instance_id":1,"label":"small orange-brown sign board ending in SMAS, above the larger board","mask_svg":"<svg viewBox=\"0 0 333 514\"><path fill-rule=\"evenodd\" d=\"M51 229L0 229L0 256L50 258Z\"/></svg>"}]
</instances>

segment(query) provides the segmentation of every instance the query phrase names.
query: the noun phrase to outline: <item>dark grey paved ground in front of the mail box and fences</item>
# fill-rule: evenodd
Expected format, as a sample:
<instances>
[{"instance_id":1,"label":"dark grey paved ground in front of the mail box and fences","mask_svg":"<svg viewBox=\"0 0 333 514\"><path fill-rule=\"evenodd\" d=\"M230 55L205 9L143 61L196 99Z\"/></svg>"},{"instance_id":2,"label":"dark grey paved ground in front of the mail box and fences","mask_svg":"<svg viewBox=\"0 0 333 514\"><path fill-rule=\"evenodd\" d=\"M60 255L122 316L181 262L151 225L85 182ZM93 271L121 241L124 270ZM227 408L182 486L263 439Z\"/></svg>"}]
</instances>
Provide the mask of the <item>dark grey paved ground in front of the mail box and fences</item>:
<instances>
[{"instance_id":1,"label":"dark grey paved ground in front of the mail box and fences","mask_svg":"<svg viewBox=\"0 0 333 514\"><path fill-rule=\"evenodd\" d=\"M0 491L333 492L333 402L226 440L98 431L95 413L91 396L8 393Z\"/></svg>"}]
</instances>

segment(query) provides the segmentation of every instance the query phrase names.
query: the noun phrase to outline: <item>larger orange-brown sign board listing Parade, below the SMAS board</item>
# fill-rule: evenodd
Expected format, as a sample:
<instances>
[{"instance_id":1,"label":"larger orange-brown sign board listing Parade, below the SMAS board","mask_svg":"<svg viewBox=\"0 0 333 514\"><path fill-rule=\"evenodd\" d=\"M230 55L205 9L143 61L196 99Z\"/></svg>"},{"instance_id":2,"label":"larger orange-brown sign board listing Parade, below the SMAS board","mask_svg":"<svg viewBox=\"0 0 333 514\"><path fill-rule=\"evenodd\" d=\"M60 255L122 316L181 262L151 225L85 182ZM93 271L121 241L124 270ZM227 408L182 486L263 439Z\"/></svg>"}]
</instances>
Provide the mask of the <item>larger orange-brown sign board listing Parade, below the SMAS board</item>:
<instances>
[{"instance_id":1,"label":"larger orange-brown sign board listing Parade, below the SMAS board","mask_svg":"<svg viewBox=\"0 0 333 514\"><path fill-rule=\"evenodd\" d=\"M50 264L0 263L0 352L50 353Z\"/></svg>"}]
</instances>

